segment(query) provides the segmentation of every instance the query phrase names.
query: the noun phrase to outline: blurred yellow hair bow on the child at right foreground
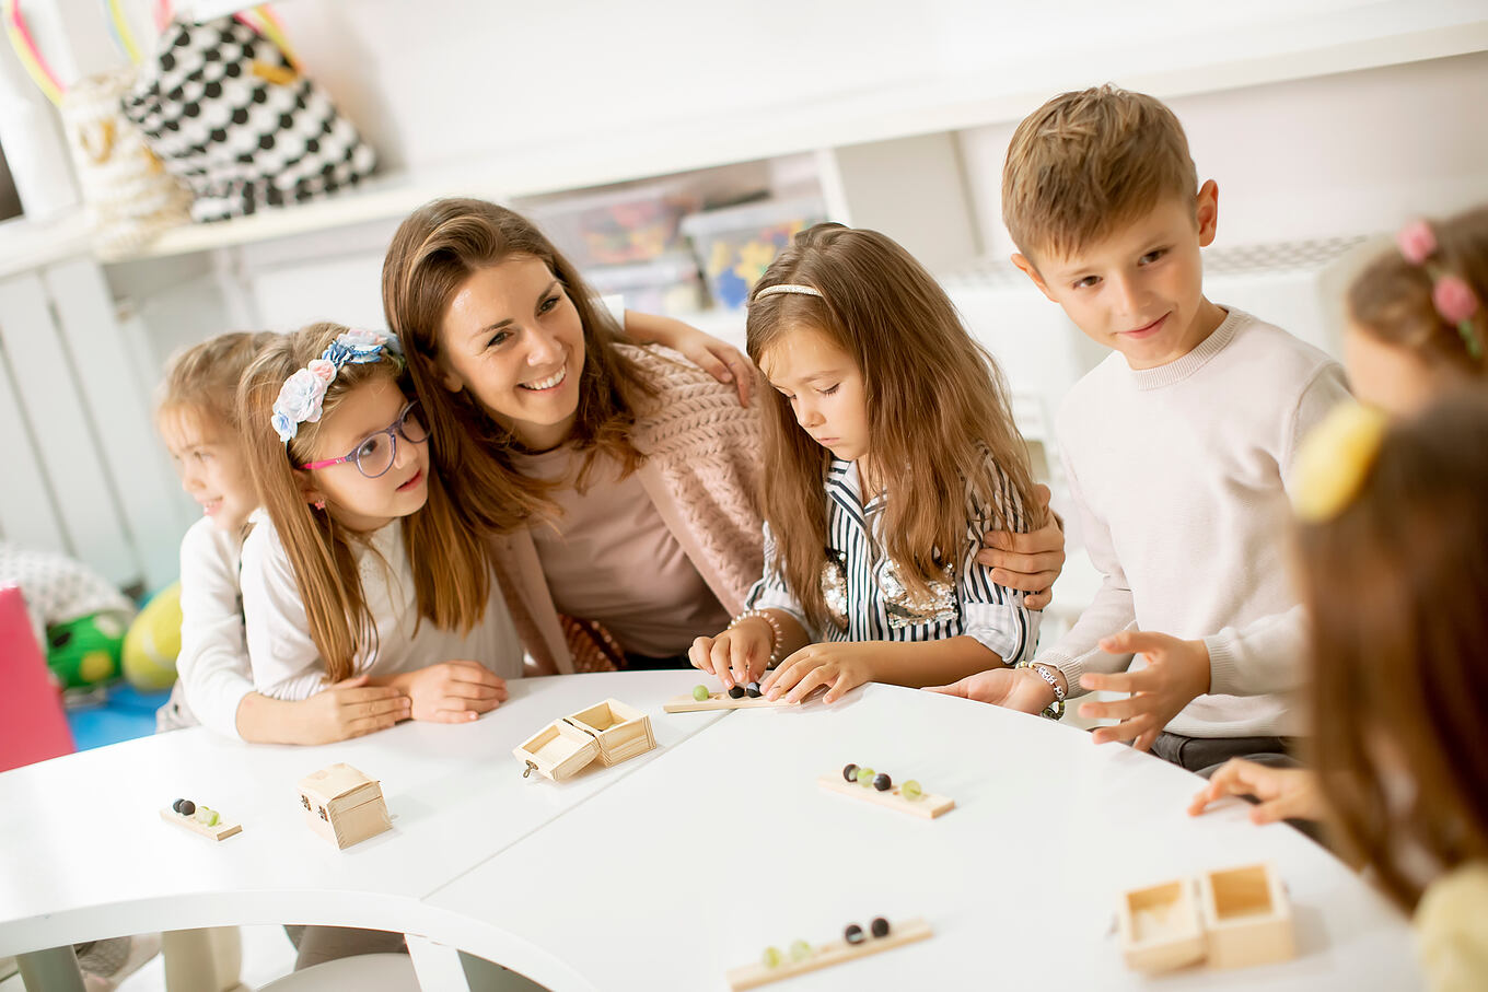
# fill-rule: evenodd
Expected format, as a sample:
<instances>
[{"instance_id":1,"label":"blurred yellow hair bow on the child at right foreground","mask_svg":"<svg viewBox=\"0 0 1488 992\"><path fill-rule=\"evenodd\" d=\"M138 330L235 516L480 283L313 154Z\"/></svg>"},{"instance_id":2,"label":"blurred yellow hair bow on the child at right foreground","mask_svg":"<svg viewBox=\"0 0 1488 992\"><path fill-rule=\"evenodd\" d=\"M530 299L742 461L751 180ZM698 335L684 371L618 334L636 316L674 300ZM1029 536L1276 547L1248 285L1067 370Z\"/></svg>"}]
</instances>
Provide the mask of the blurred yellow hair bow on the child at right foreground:
<instances>
[{"instance_id":1,"label":"blurred yellow hair bow on the child at right foreground","mask_svg":"<svg viewBox=\"0 0 1488 992\"><path fill-rule=\"evenodd\" d=\"M1390 418L1348 400L1333 408L1298 448L1298 485L1292 506L1305 524L1321 524L1344 512L1379 457Z\"/></svg>"}]
</instances>

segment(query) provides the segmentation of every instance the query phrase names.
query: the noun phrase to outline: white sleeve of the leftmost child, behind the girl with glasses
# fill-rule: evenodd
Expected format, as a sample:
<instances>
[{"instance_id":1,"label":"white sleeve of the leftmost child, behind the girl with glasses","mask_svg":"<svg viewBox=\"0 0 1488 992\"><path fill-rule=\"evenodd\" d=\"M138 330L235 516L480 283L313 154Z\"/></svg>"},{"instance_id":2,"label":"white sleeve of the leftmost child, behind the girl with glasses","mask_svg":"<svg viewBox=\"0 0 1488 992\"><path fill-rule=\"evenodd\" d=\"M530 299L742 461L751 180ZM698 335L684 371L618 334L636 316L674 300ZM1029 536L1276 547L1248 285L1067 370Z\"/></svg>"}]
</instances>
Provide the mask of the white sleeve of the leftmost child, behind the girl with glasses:
<instances>
[{"instance_id":1,"label":"white sleeve of the leftmost child, behind the girl with glasses","mask_svg":"<svg viewBox=\"0 0 1488 992\"><path fill-rule=\"evenodd\" d=\"M238 733L238 706L253 692L235 538L201 519L182 538L182 650L176 674L192 714L220 735Z\"/></svg>"}]
</instances>

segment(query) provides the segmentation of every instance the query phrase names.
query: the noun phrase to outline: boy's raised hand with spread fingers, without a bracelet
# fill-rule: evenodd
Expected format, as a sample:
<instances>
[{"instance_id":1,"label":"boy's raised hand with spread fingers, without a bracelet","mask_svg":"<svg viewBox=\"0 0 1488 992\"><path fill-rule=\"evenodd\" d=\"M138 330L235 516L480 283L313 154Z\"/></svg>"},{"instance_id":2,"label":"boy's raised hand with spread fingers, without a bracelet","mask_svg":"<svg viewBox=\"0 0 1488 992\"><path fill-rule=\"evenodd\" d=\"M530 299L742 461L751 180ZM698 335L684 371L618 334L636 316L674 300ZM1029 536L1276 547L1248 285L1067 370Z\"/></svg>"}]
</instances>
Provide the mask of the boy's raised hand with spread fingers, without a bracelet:
<instances>
[{"instance_id":1,"label":"boy's raised hand with spread fingers, without a bracelet","mask_svg":"<svg viewBox=\"0 0 1488 992\"><path fill-rule=\"evenodd\" d=\"M1204 641L1180 641L1150 631L1122 631L1101 641L1107 654L1141 654L1147 668L1135 672L1103 675L1086 672L1080 686L1104 692L1131 693L1131 699L1088 702L1080 706L1086 718L1120 720L1115 727L1097 727L1095 744L1132 741L1146 751L1178 711L1210 687L1208 648Z\"/></svg>"}]
</instances>

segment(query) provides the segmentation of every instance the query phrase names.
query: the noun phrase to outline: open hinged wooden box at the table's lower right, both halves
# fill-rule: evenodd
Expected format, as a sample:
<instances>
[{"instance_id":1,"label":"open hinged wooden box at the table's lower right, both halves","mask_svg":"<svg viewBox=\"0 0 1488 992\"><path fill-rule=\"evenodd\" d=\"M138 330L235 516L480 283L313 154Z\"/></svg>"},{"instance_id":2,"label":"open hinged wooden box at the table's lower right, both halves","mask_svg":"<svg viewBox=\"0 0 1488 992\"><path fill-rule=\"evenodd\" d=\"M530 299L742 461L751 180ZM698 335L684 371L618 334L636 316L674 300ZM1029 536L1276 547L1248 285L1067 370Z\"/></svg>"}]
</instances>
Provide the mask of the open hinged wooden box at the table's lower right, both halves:
<instances>
[{"instance_id":1,"label":"open hinged wooden box at the table's lower right, both halves","mask_svg":"<svg viewBox=\"0 0 1488 992\"><path fill-rule=\"evenodd\" d=\"M1296 956L1292 904L1269 864L1131 889L1122 895L1116 927L1126 965L1137 971L1198 961L1244 968Z\"/></svg>"}]
</instances>

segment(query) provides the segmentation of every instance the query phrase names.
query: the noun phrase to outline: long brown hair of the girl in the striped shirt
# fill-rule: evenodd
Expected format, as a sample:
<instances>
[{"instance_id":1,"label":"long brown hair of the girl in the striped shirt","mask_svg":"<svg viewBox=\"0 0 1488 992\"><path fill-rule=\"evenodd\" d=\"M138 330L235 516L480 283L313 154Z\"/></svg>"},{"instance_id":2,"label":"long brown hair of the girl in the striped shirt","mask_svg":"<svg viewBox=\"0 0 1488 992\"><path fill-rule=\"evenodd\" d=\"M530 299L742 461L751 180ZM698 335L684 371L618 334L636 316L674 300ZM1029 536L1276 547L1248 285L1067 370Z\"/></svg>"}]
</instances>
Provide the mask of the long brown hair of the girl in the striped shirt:
<instances>
[{"instance_id":1,"label":"long brown hair of the girl in the striped shirt","mask_svg":"<svg viewBox=\"0 0 1488 992\"><path fill-rule=\"evenodd\" d=\"M774 293L796 283L821 296ZM863 375L873 464L891 479L885 553L914 592L924 593L960 562L967 497L994 507L988 529L1027 531L1042 522L1028 449L1013 425L995 360L961 324L945 290L899 244L876 231L817 225L796 235L760 277L748 308L748 355L756 364L784 335L820 330ZM765 521L783 577L806 616L821 625L830 452L766 390ZM988 455L991 461L988 464Z\"/></svg>"}]
</instances>

